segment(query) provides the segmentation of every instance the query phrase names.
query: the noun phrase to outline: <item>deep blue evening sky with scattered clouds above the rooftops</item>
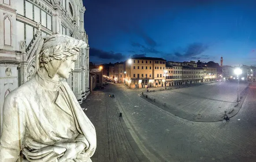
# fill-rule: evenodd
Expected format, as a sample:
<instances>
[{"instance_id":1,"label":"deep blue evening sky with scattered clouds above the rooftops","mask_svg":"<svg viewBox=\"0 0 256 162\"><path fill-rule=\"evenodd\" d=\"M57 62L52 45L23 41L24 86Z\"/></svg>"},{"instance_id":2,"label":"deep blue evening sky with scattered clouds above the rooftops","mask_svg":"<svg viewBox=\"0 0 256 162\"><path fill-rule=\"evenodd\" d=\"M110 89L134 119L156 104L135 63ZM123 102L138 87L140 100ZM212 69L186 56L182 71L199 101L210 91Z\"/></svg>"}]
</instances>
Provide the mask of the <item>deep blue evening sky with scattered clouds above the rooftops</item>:
<instances>
[{"instance_id":1,"label":"deep blue evening sky with scattered clouds above the rooftops","mask_svg":"<svg viewBox=\"0 0 256 162\"><path fill-rule=\"evenodd\" d=\"M232 3L230 3L232 2ZM90 61L256 65L255 0L83 0Z\"/></svg>"}]
</instances>

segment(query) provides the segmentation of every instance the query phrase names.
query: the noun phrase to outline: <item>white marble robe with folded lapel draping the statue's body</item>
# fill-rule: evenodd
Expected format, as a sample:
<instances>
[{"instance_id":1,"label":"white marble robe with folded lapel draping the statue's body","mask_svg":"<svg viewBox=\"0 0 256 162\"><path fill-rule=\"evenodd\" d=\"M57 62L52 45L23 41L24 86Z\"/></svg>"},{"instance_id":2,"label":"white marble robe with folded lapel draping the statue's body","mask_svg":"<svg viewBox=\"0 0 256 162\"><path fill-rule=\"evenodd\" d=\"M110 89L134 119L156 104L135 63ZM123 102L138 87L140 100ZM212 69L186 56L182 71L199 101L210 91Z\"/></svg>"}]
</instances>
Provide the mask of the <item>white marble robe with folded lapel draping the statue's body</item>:
<instances>
[{"instance_id":1,"label":"white marble robe with folded lapel draping the statue's body","mask_svg":"<svg viewBox=\"0 0 256 162\"><path fill-rule=\"evenodd\" d=\"M23 159L21 151L27 157L27 151L74 141L89 142L89 149L85 148L77 158L65 162L91 162L96 149L95 128L66 82L56 82L37 73L7 95L0 162L18 162ZM52 159L58 162L56 157ZM33 160L27 157L21 161Z\"/></svg>"}]
</instances>

